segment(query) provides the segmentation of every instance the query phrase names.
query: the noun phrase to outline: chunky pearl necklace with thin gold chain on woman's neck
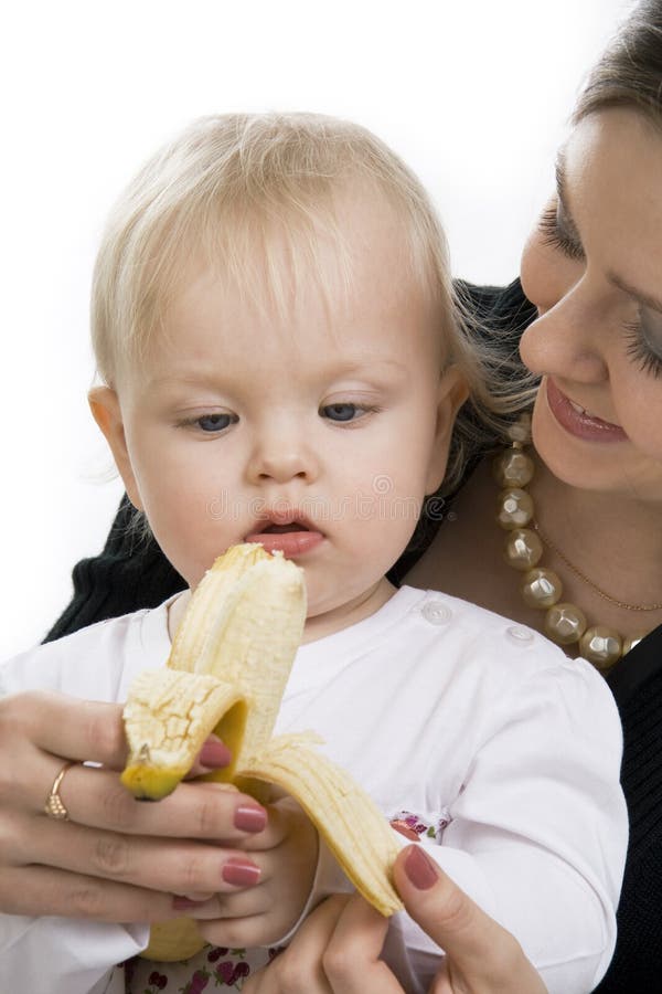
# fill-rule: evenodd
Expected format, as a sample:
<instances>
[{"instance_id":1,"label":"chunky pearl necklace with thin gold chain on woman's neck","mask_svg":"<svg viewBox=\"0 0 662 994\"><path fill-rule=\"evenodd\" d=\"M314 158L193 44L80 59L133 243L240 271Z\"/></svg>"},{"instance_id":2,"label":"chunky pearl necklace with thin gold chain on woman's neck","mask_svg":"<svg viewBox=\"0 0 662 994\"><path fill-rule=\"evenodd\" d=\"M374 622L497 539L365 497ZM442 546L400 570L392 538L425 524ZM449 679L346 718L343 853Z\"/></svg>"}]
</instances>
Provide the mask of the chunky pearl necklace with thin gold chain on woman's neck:
<instances>
[{"instance_id":1,"label":"chunky pearl necklace with thin gold chain on woman's neck","mask_svg":"<svg viewBox=\"0 0 662 994\"><path fill-rule=\"evenodd\" d=\"M535 521L533 498L525 489L535 472L533 459L524 452L524 446L531 441L527 422L522 420L514 424L510 434L512 445L496 456L492 466L493 475L502 487L496 519L508 532L505 561L524 574L520 586L524 603L528 607L537 607L545 612L543 620L545 635L557 645L573 645L578 642L579 655L598 669L606 672L641 642L648 632L623 637L615 628L606 625L589 625L580 607L569 601L562 602L560 578L554 570L538 567L544 552L543 536ZM530 528L526 527L528 525ZM617 601L568 563L566 557L548 539L546 542L580 579L606 600L630 611L654 611L662 606L634 605Z\"/></svg>"}]
</instances>

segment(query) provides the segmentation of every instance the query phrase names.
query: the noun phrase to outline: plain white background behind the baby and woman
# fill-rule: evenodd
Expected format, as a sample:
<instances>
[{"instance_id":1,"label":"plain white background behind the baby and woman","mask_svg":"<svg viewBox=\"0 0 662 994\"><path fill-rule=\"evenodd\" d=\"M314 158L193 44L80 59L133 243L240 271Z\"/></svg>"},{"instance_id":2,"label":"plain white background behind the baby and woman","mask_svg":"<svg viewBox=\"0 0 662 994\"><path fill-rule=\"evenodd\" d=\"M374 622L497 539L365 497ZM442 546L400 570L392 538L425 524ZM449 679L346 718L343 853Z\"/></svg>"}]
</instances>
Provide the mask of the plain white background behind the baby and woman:
<instances>
[{"instance_id":1,"label":"plain white background behind the baby and woman","mask_svg":"<svg viewBox=\"0 0 662 994\"><path fill-rule=\"evenodd\" d=\"M21 0L0 28L0 658L40 641L121 494L86 403L104 218L191 118L308 109L419 173L456 274L505 283L624 0ZM92 663L92 660L90 660Z\"/></svg>"}]
</instances>

